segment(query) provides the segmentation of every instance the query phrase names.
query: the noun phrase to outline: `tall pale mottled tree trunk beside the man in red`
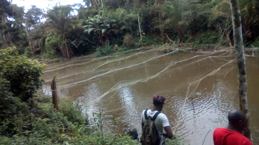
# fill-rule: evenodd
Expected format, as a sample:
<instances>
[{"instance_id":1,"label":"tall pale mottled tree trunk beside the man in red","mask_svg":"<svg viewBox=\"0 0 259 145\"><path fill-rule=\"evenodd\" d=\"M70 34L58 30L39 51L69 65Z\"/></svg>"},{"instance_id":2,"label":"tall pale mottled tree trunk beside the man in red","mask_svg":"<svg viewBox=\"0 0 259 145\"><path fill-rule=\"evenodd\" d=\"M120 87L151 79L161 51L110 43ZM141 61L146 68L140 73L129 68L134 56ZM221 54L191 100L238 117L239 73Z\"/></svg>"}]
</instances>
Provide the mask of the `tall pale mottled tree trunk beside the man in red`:
<instances>
[{"instance_id":1,"label":"tall pale mottled tree trunk beside the man in red","mask_svg":"<svg viewBox=\"0 0 259 145\"><path fill-rule=\"evenodd\" d=\"M236 59L238 67L238 99L240 102L240 110L246 114L246 127L244 130L244 136L251 139L246 93L246 61L238 0L230 0L230 8L232 12L232 24L234 30L234 42L236 48Z\"/></svg>"}]
</instances>

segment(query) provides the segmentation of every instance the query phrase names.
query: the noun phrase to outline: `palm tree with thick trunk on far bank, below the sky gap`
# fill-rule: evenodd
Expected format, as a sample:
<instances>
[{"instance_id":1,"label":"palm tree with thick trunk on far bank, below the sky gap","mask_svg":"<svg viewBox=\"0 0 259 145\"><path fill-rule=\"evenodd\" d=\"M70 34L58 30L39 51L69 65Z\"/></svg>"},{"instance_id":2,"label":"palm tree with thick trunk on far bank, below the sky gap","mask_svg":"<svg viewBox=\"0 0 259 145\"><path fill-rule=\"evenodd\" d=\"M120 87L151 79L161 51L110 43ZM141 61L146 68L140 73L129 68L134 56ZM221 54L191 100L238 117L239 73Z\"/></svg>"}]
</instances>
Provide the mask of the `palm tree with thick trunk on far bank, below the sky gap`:
<instances>
[{"instance_id":1,"label":"palm tree with thick trunk on far bank, below the sky gap","mask_svg":"<svg viewBox=\"0 0 259 145\"><path fill-rule=\"evenodd\" d=\"M49 9L46 14L47 25L49 26L46 33L56 33L60 40L60 51L65 58L71 58L74 54L71 50L69 39L67 39L68 29L73 29L73 16L71 15L72 7L55 6Z\"/></svg>"}]
</instances>

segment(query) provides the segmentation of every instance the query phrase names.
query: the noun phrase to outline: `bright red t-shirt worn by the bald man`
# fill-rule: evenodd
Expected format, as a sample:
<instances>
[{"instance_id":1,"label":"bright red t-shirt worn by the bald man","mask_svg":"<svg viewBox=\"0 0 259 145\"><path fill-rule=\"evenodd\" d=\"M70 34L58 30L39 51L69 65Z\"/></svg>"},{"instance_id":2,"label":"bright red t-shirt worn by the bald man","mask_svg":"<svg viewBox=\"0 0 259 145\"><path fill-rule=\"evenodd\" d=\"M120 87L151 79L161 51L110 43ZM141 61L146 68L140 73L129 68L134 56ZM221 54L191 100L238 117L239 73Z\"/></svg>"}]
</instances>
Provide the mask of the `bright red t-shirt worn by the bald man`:
<instances>
[{"instance_id":1,"label":"bright red t-shirt worn by the bald man","mask_svg":"<svg viewBox=\"0 0 259 145\"><path fill-rule=\"evenodd\" d=\"M214 145L253 145L241 133L227 128L216 128L213 133Z\"/></svg>"}]
</instances>

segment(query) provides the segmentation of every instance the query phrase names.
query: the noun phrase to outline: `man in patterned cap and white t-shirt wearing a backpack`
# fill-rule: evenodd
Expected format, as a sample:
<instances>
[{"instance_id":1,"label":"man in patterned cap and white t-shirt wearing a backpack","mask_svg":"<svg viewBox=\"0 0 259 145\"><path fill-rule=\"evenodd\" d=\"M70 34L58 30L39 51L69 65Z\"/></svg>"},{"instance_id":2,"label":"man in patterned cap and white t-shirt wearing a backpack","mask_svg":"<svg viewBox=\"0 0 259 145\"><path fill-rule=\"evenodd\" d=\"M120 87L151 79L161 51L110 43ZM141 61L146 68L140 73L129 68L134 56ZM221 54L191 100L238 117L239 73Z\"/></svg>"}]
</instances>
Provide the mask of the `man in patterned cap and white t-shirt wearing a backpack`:
<instances>
[{"instance_id":1,"label":"man in patterned cap and white t-shirt wearing a backpack","mask_svg":"<svg viewBox=\"0 0 259 145\"><path fill-rule=\"evenodd\" d=\"M166 98L162 95L153 97L153 108L146 109L141 114L142 145L165 145L165 138L172 138L169 121L165 114L161 113ZM166 133L163 133L163 129Z\"/></svg>"}]
</instances>

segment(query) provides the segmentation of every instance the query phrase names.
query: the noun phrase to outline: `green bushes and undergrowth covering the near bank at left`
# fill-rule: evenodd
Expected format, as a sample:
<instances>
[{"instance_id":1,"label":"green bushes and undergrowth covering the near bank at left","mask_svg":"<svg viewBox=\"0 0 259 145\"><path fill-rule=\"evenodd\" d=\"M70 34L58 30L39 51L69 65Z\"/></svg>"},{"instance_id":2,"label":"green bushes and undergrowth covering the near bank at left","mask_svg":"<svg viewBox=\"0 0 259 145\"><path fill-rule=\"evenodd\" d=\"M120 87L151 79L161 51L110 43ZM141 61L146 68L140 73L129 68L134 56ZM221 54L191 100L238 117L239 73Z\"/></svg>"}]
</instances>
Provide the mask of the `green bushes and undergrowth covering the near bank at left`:
<instances>
[{"instance_id":1,"label":"green bushes and undergrowth covering the near bank at left","mask_svg":"<svg viewBox=\"0 0 259 145\"><path fill-rule=\"evenodd\" d=\"M62 99L59 109L54 109L50 96L36 93L43 84L44 65L19 56L18 51L16 47L0 50L0 144L137 144L127 134L118 133L116 119L103 116L103 109L93 113L93 125L82 106L72 100ZM104 130L104 118L114 129ZM174 138L168 144L178 145L180 140Z\"/></svg>"}]
</instances>

